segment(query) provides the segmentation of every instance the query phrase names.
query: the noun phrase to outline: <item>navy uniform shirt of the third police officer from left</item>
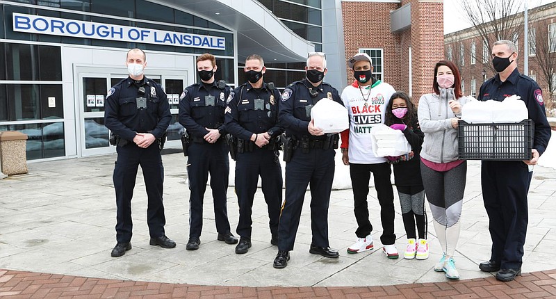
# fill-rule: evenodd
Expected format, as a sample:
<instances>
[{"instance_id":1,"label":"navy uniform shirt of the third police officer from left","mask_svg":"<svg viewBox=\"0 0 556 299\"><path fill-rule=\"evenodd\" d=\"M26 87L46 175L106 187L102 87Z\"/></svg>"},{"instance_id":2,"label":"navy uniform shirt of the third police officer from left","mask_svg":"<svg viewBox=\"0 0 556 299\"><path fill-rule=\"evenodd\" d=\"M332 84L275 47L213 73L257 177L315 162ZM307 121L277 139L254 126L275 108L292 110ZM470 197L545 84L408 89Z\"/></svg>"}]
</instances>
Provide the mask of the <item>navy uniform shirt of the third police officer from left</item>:
<instances>
[{"instance_id":1,"label":"navy uniform shirt of the third police officer from left","mask_svg":"<svg viewBox=\"0 0 556 299\"><path fill-rule=\"evenodd\" d=\"M224 115L226 131L243 140L265 132L271 138L279 136L283 131L277 126L280 97L280 92L275 88L270 90L267 83L262 88L243 83L230 92Z\"/></svg>"}]
</instances>

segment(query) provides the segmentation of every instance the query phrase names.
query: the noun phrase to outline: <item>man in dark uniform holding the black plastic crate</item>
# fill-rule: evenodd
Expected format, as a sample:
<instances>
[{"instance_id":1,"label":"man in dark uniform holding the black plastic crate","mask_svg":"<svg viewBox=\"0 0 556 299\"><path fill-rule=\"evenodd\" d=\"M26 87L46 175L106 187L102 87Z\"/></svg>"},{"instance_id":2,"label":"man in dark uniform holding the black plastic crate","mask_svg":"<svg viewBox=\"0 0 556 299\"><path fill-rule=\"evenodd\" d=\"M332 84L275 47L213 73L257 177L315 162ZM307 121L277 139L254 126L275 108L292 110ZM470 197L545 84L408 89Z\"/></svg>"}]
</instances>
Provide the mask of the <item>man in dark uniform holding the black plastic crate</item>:
<instances>
[{"instance_id":1,"label":"man in dark uniform holding the black plastic crate","mask_svg":"<svg viewBox=\"0 0 556 299\"><path fill-rule=\"evenodd\" d=\"M489 215L492 250L490 260L482 262L479 268L485 272L498 271L496 279L507 282L521 275L532 165L537 164L546 149L551 133L541 88L517 70L518 49L514 42L495 42L492 57L498 74L483 83L478 99L502 101L508 96L518 95L525 102L529 118L534 122L531 160L482 161L481 164L482 194Z\"/></svg>"}]
</instances>

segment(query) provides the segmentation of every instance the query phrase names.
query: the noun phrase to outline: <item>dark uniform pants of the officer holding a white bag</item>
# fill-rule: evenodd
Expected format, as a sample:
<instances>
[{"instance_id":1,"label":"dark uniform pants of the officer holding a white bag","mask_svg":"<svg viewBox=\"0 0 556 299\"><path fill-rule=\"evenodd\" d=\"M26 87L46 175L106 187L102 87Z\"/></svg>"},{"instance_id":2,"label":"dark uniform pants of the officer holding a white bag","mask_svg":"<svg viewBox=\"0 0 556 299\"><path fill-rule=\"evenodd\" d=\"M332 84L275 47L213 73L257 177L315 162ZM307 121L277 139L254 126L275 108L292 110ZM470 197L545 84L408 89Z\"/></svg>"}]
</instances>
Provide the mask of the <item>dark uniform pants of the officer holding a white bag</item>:
<instances>
[{"instance_id":1,"label":"dark uniform pants of the officer holding a white bag","mask_svg":"<svg viewBox=\"0 0 556 299\"><path fill-rule=\"evenodd\" d=\"M311 188L311 245L329 247L328 205L334 179L334 149L295 149L286 163L286 200L278 225L278 250L293 250L307 185Z\"/></svg>"}]
</instances>

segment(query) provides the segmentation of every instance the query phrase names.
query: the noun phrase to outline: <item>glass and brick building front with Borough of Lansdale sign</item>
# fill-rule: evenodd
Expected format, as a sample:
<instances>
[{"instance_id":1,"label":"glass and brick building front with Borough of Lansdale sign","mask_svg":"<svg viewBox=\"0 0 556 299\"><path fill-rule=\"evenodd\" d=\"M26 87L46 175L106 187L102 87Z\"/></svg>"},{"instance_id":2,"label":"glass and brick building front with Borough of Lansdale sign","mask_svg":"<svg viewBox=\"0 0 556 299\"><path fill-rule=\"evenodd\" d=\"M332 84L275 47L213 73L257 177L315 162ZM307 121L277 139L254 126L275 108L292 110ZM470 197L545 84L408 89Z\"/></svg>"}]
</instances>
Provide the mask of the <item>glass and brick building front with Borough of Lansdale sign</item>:
<instances>
[{"instance_id":1,"label":"glass and brick building front with Borough of Lansdale sign","mask_svg":"<svg viewBox=\"0 0 556 299\"><path fill-rule=\"evenodd\" d=\"M168 95L167 147L181 146L178 97L206 52L231 86L260 54L265 81L285 88L323 51L325 81L342 90L353 81L347 59L366 51L378 79L418 99L443 55L441 11L441 0L0 0L0 131L28 136L28 160L115 152L104 98L134 47Z\"/></svg>"}]
</instances>

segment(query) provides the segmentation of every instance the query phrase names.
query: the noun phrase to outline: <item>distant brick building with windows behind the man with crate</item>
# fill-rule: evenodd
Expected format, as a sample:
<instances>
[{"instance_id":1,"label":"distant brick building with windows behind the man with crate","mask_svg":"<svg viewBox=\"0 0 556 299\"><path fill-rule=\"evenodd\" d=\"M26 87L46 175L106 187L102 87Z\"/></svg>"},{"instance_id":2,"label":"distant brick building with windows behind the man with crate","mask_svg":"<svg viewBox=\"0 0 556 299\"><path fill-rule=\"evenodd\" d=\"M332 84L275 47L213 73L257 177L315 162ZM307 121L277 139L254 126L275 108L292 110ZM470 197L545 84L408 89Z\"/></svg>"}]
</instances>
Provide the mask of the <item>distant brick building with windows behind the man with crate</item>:
<instances>
[{"instance_id":1,"label":"distant brick building with windows behind the man with crate","mask_svg":"<svg viewBox=\"0 0 556 299\"><path fill-rule=\"evenodd\" d=\"M556 2L528 10L527 45L524 40L523 12L510 18L512 22L502 21L498 25L487 23L484 28L516 24L498 34L516 42L519 51L518 70L539 83L550 115L556 108ZM471 27L447 34L444 39L445 57L459 67L461 90L472 97L477 97L482 83L496 74L491 62L491 43L499 38L492 30L486 32L485 36ZM528 60L527 71L524 70L525 58Z\"/></svg>"}]
</instances>

